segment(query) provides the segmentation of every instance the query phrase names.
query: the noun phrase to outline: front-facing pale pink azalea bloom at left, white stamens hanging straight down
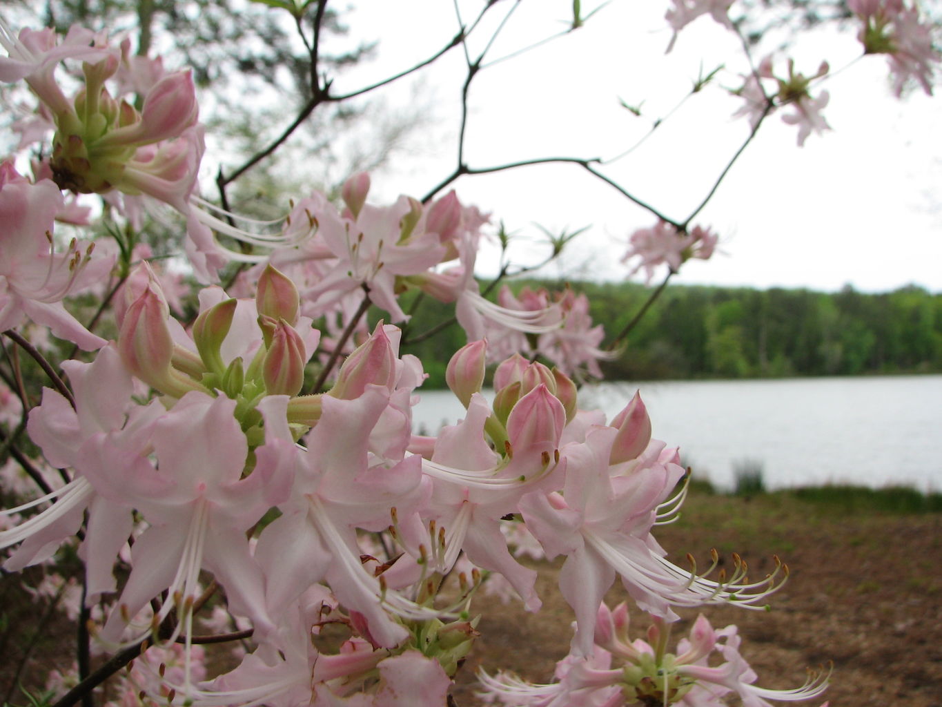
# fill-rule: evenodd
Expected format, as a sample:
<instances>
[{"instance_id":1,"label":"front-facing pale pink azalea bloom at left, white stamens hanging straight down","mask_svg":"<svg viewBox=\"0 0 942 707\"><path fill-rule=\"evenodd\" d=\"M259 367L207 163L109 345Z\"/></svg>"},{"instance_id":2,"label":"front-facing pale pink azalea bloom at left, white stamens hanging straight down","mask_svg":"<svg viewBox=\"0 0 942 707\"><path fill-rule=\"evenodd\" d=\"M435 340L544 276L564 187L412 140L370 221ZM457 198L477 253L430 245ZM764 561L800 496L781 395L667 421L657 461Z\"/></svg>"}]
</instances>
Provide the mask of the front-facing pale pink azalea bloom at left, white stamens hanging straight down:
<instances>
[{"instance_id":1,"label":"front-facing pale pink azalea bloom at left, white stamens hanging straight down","mask_svg":"<svg viewBox=\"0 0 942 707\"><path fill-rule=\"evenodd\" d=\"M286 403L284 397L265 401L280 405L282 416ZM89 481L137 508L150 524L131 551L133 568L106 622L104 639L117 640L128 618L165 589L181 604L177 632L188 634L186 601L195 598L203 568L225 587L236 615L252 617L260 633L272 628L262 573L245 531L284 500L290 473L281 459L284 447L272 434L255 450L252 473L242 478L249 448L234 417L235 404L226 397L187 393L154 424L156 463L128 454L122 454L122 465L107 463L116 456L109 435L83 450ZM167 617L175 603L167 601L156 620Z\"/></svg>"}]
</instances>

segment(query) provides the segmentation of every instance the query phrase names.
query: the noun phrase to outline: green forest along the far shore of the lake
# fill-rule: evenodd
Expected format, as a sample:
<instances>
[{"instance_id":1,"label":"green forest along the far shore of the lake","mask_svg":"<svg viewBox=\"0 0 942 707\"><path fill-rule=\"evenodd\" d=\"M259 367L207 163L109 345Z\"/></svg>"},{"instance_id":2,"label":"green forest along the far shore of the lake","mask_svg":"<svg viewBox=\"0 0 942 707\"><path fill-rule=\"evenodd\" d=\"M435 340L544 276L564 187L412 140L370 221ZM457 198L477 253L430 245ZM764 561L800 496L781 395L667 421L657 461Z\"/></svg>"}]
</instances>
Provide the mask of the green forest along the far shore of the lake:
<instances>
[{"instance_id":1,"label":"green forest along the far shore of the lake","mask_svg":"<svg viewBox=\"0 0 942 707\"><path fill-rule=\"evenodd\" d=\"M558 288L518 281L512 288ZM592 303L593 320L608 339L651 296L634 283L570 283ZM403 353L427 366L427 386L444 386L441 351L462 346L453 324L438 336L422 333L448 320L447 305L414 303ZM942 294L918 287L869 294L808 289L666 288L626 338L622 354L603 364L609 380L749 378L804 375L942 372Z\"/></svg>"}]
</instances>

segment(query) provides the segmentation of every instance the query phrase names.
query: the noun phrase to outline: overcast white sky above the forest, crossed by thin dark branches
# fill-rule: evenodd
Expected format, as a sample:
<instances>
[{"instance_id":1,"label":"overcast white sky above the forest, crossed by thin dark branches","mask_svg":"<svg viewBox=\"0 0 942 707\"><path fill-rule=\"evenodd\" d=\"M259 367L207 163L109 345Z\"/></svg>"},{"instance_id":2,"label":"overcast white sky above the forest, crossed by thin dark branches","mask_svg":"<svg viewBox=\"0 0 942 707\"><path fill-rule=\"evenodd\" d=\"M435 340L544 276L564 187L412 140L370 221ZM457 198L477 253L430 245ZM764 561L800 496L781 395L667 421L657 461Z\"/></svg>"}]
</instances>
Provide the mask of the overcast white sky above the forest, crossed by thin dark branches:
<instances>
[{"instance_id":1,"label":"overcast white sky above the forest, crossed by thin dark branches","mask_svg":"<svg viewBox=\"0 0 942 707\"><path fill-rule=\"evenodd\" d=\"M583 2L588 9L597 4ZM461 5L467 19L483 0ZM361 0L356 6L351 36L381 40L379 54L338 79L335 90L429 56L457 28L447 0ZM701 60L707 71L725 63L717 85L691 97L641 148L607 170L663 213L685 218L748 134L744 120L730 118L740 101L721 88L738 87L745 64L735 37L708 17L689 25L665 56L667 6L614 0L576 33L479 74L471 89L468 163L615 156L674 107ZM489 56L559 31L571 8L571 0L522 3ZM480 34L476 51L488 36ZM795 48L796 68L813 74L826 58L836 72L859 54L853 32L808 34ZM776 73L785 72L782 58ZM867 57L821 84L818 90L831 93L824 116L833 131L812 135L803 148L796 146L797 128L773 115L695 221L721 234L723 255L687 263L676 282L825 290L850 283L865 291L916 283L942 291L942 103L921 92L897 101L885 74L885 58ZM375 176L374 198L421 196L453 169L462 81L463 58L452 51L433 71L387 92L389 110L417 107L425 123L408 155ZM619 98L635 105L643 100L644 116L633 117ZM554 275L624 278L618 260L627 236L654 222L571 166L464 177L455 188L464 203L520 230L521 260L542 254L528 239L539 233L533 222L551 230L591 224L590 234L549 271ZM493 268L493 258L479 261L482 274Z\"/></svg>"}]
</instances>

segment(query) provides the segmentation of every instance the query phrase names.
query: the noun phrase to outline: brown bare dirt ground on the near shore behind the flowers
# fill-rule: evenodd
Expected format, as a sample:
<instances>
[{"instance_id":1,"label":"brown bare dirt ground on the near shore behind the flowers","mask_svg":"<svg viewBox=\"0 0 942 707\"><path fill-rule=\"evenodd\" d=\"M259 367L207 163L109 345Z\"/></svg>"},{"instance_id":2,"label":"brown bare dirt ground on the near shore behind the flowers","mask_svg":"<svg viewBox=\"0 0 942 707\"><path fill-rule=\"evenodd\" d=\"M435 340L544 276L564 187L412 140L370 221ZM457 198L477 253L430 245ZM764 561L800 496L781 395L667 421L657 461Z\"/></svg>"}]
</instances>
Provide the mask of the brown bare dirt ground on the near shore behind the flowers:
<instances>
[{"instance_id":1,"label":"brown bare dirt ground on the near shore behind the flowers","mask_svg":"<svg viewBox=\"0 0 942 707\"><path fill-rule=\"evenodd\" d=\"M682 518L656 535L681 566L687 552L706 565L710 548L727 563L738 551L754 578L772 567L773 554L788 563L791 578L771 598L771 612L704 612L714 627L739 626L742 653L759 675L757 684L797 687L806 667L833 661L831 707L942 707L942 515L848 513L783 494L746 500L692 493ZM540 568L544 608L538 614L514 603L478 600L486 616L453 690L459 707L481 704L474 686L479 666L546 682L566 654L572 614L556 589L558 567ZM0 699L21 662L22 682L38 686L51 667L73 660L74 625L64 617L50 617L34 642L32 627L43 609L14 600L23 580L0 580L0 614L7 621L0 626ZM608 599L612 605L625 600L624 589L616 586ZM674 635L686 635L694 617L695 611L685 613ZM643 631L641 613L632 619ZM26 704L18 690L9 694L14 704ZM818 707L821 701L807 704Z\"/></svg>"}]
</instances>

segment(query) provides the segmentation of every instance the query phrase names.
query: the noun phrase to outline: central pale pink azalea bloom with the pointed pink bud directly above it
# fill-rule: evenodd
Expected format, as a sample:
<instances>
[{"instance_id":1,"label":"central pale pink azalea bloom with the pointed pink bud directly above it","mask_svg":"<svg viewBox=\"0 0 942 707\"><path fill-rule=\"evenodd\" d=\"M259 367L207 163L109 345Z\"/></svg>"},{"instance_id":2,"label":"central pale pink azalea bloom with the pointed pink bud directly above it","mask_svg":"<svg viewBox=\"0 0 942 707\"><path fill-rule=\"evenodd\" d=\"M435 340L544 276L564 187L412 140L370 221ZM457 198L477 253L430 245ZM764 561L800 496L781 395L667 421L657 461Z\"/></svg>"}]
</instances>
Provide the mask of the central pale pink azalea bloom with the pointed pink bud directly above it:
<instances>
[{"instance_id":1,"label":"central pale pink azalea bloom with the pointed pink bud directly above it","mask_svg":"<svg viewBox=\"0 0 942 707\"><path fill-rule=\"evenodd\" d=\"M398 360L393 330L378 328L341 370L335 394L321 397L320 416L305 447L290 450L297 468L291 499L281 506L283 516L261 534L257 550L266 573L281 578L268 586L272 614L324 582L351 612L362 615L370 640L386 648L407 633L390 613L421 620L437 616L364 567L357 540L358 528L387 528L391 508L408 518L430 492L421 458L405 455L411 392L420 378L408 361ZM266 418L266 424L276 421ZM286 433L286 423L278 424Z\"/></svg>"}]
</instances>

